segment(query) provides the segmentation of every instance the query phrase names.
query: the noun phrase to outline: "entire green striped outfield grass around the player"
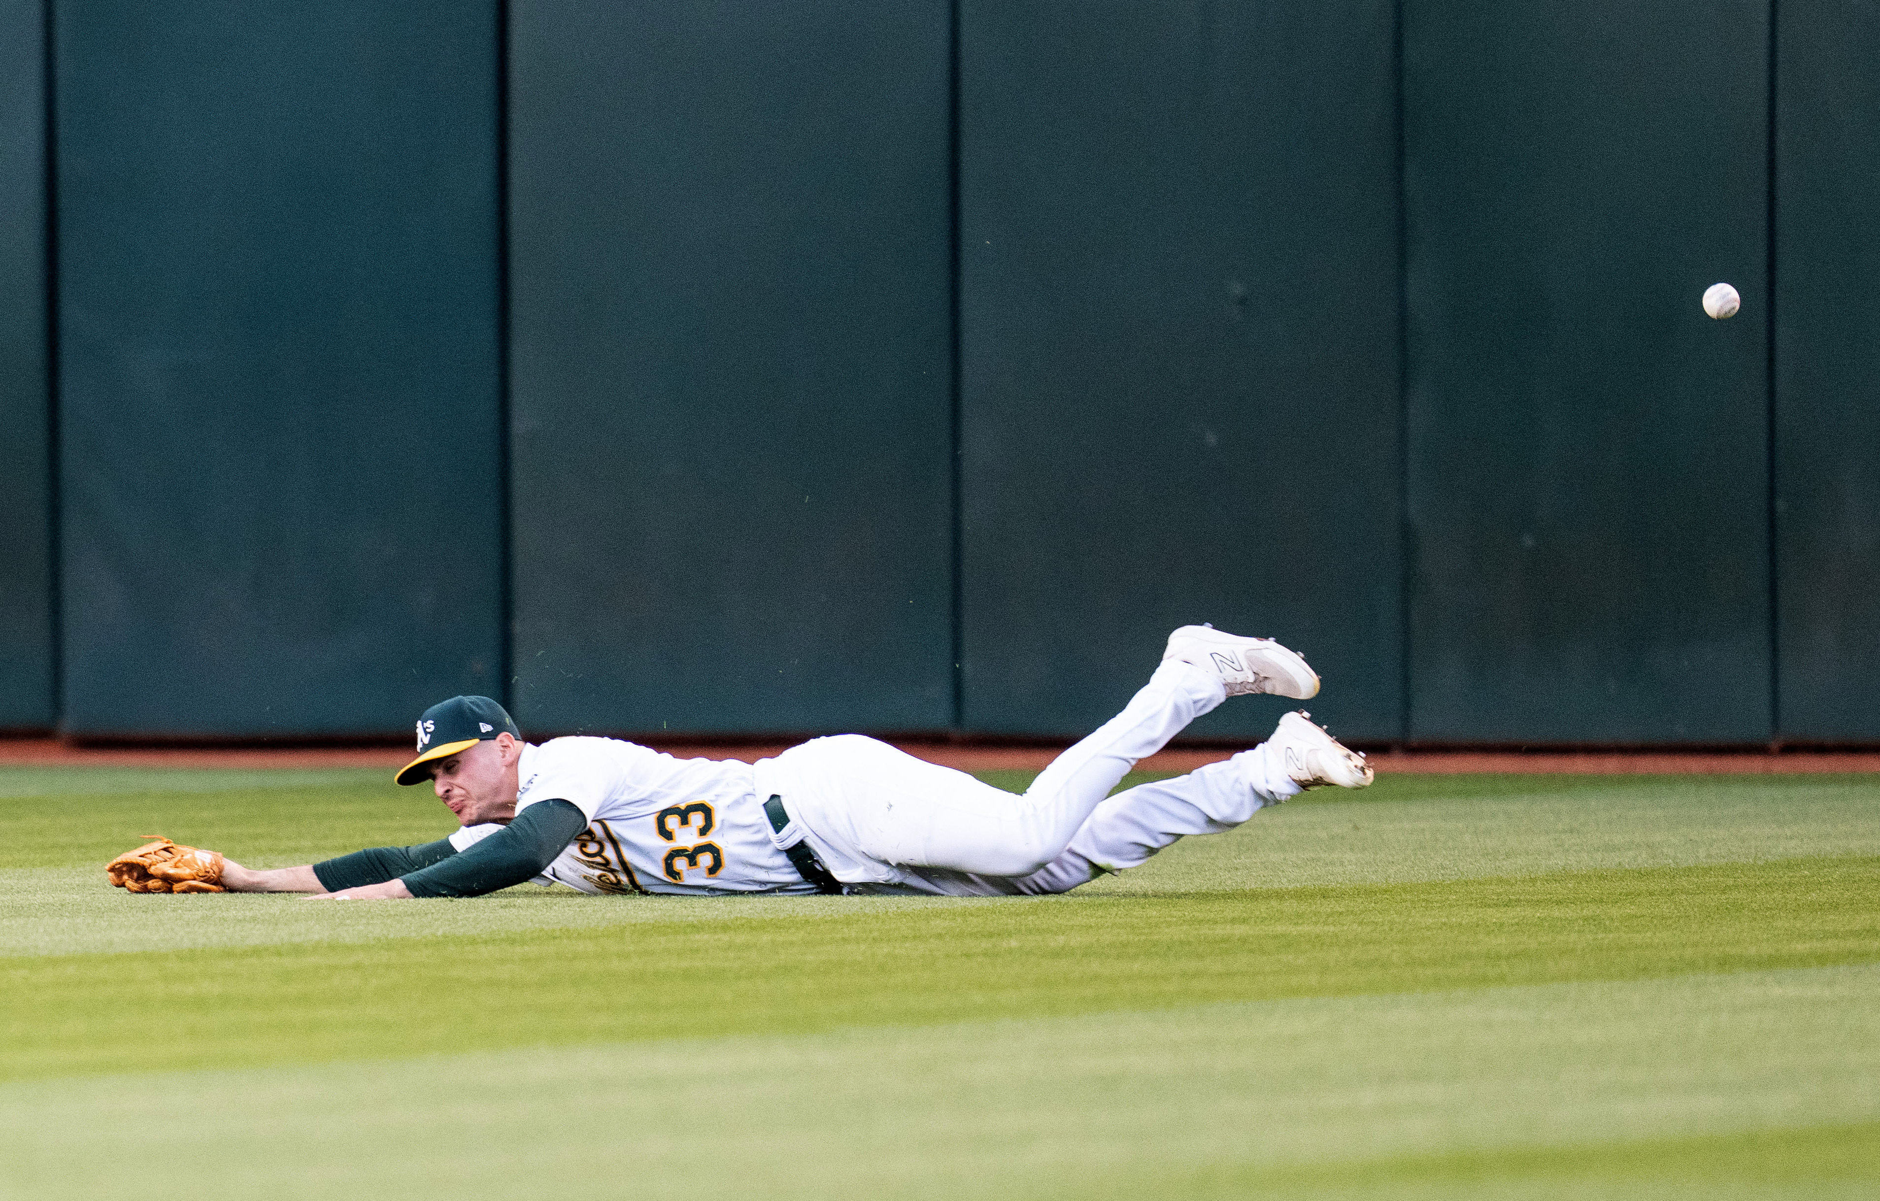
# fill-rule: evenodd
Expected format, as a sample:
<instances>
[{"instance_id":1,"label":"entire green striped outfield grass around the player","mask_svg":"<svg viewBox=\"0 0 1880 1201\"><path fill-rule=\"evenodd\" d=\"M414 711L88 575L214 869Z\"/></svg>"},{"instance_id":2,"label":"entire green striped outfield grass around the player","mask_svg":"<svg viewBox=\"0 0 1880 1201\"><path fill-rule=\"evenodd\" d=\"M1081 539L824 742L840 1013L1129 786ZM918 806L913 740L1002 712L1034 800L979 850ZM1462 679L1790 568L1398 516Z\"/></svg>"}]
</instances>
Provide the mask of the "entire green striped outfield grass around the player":
<instances>
[{"instance_id":1,"label":"entire green striped outfield grass around the player","mask_svg":"<svg viewBox=\"0 0 1880 1201\"><path fill-rule=\"evenodd\" d=\"M323 1201L1880 1190L1872 778L1391 778L1060 898L100 870L447 823L344 771L0 772L0 1197L152 1156Z\"/></svg>"}]
</instances>

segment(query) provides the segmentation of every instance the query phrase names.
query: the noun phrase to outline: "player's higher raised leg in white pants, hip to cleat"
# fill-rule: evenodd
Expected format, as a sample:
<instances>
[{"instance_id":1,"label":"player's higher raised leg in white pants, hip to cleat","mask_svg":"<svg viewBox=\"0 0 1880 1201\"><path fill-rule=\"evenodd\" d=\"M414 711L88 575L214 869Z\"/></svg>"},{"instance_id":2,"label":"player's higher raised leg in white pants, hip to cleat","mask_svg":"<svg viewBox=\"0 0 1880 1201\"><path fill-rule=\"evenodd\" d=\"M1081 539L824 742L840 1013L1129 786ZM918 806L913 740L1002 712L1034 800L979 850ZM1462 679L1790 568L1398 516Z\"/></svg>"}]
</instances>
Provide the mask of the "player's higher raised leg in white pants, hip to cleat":
<instances>
[{"instance_id":1,"label":"player's higher raised leg in white pants, hip to cleat","mask_svg":"<svg viewBox=\"0 0 1880 1201\"><path fill-rule=\"evenodd\" d=\"M1184 626L1124 710L1058 756L1017 799L963 772L884 759L893 748L870 739L823 739L786 757L795 756L797 778L808 786L805 825L838 857L1028 876L1064 851L1137 759L1226 695L1248 692L1312 695L1318 677L1278 643ZM803 771L812 757L818 771Z\"/></svg>"}]
</instances>

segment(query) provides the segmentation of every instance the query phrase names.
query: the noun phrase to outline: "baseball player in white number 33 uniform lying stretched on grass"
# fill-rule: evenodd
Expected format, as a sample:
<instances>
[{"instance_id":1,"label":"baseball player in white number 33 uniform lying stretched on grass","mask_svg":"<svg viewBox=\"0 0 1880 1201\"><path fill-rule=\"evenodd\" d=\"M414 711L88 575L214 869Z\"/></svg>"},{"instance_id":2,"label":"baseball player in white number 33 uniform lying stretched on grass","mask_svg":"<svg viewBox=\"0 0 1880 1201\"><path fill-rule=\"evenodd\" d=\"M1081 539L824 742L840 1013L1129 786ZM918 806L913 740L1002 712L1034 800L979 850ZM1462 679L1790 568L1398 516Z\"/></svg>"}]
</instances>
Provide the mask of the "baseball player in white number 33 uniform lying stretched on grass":
<instances>
[{"instance_id":1,"label":"baseball player in white number 33 uniform lying stretched on grass","mask_svg":"<svg viewBox=\"0 0 1880 1201\"><path fill-rule=\"evenodd\" d=\"M431 780L462 825L449 838L248 870L167 840L120 855L141 893L479 897L525 881L583 893L1068 893L1184 834L1218 834L1307 788L1363 788L1371 767L1305 712L1222 763L1109 791L1137 759L1226 697L1310 697L1318 675L1271 639L1211 626L1169 635L1149 684L1060 754L1023 795L863 735L758 763L675 759L617 739L523 741L489 697L417 722L399 784Z\"/></svg>"}]
</instances>

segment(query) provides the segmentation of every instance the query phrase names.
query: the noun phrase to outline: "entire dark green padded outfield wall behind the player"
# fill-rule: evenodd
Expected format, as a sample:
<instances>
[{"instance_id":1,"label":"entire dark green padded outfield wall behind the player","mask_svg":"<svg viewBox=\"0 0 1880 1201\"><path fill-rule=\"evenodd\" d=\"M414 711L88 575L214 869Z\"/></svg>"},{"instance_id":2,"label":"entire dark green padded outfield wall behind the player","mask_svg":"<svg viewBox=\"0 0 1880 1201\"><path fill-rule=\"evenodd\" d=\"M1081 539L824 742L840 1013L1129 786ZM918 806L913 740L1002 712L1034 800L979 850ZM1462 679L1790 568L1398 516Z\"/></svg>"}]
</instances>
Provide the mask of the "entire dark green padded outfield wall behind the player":
<instances>
[{"instance_id":1,"label":"entire dark green padded outfield wall behind the player","mask_svg":"<svg viewBox=\"0 0 1880 1201\"><path fill-rule=\"evenodd\" d=\"M0 729L1066 737L1213 620L1880 742L1874 229L1867 0L0 0Z\"/></svg>"}]
</instances>

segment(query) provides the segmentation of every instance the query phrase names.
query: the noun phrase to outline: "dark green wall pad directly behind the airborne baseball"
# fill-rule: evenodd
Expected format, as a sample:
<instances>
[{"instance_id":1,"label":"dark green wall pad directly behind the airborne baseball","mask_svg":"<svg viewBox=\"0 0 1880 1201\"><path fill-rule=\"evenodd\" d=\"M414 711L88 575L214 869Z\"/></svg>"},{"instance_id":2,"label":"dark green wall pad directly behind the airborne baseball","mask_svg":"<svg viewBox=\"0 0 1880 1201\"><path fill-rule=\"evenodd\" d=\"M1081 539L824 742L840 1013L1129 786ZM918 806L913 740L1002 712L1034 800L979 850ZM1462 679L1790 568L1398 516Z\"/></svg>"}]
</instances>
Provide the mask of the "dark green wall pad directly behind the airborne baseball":
<instances>
[{"instance_id":1,"label":"dark green wall pad directly behind the airborne baseball","mask_svg":"<svg viewBox=\"0 0 1880 1201\"><path fill-rule=\"evenodd\" d=\"M1771 733L1767 17L1404 6L1416 739Z\"/></svg>"}]
</instances>

